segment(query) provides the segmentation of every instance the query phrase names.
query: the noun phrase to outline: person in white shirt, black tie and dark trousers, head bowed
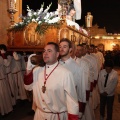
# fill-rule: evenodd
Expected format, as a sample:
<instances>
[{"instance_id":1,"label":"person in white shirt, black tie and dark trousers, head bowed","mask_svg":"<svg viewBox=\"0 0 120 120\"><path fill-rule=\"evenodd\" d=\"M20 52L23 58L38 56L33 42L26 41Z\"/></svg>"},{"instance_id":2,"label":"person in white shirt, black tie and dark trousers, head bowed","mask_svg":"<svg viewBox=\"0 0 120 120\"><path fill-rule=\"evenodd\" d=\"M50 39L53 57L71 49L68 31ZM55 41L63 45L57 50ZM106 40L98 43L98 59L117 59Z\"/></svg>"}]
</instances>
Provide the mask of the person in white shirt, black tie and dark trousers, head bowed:
<instances>
[{"instance_id":1,"label":"person in white shirt, black tie and dark trousers, head bowed","mask_svg":"<svg viewBox=\"0 0 120 120\"><path fill-rule=\"evenodd\" d=\"M100 120L104 120L105 107L107 107L107 119L112 120L115 88L118 83L118 73L113 69L111 59L105 61L104 69L99 73L98 87L100 92Z\"/></svg>"}]
</instances>

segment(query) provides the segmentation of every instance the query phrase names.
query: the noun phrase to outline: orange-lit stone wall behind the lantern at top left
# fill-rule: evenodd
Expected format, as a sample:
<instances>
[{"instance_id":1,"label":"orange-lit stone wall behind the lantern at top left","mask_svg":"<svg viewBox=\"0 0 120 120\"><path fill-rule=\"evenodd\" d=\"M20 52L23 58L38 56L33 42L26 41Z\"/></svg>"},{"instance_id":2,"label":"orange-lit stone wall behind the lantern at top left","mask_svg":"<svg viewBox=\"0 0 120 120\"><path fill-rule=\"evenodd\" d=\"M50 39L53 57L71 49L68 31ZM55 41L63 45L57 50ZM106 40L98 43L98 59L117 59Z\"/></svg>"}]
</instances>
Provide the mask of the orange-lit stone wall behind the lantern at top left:
<instances>
[{"instance_id":1,"label":"orange-lit stone wall behind the lantern at top left","mask_svg":"<svg viewBox=\"0 0 120 120\"><path fill-rule=\"evenodd\" d=\"M15 22L19 22L19 16L22 13L22 0L16 0ZM8 0L0 0L0 44L7 45L7 28L10 26L10 16L7 12Z\"/></svg>"}]
</instances>

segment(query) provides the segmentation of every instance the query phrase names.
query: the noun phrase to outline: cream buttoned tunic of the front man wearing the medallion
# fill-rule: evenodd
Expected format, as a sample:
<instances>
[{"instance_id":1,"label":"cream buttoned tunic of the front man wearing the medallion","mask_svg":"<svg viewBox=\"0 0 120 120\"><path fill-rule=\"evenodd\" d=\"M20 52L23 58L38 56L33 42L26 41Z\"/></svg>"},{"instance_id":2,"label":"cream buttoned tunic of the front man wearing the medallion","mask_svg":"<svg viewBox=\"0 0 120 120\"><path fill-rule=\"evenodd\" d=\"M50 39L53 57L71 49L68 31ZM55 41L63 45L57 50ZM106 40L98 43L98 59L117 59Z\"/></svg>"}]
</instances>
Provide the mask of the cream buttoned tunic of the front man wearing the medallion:
<instances>
[{"instance_id":1,"label":"cream buttoned tunic of the front man wearing the medallion","mask_svg":"<svg viewBox=\"0 0 120 120\"><path fill-rule=\"evenodd\" d=\"M58 62L47 66L46 75L49 75L57 64ZM78 99L71 72L59 64L48 77L46 91L43 93L44 69L39 67L33 71L34 83L31 87L36 105L34 120L58 120L57 113L60 120L67 120L68 113L78 115Z\"/></svg>"}]
</instances>

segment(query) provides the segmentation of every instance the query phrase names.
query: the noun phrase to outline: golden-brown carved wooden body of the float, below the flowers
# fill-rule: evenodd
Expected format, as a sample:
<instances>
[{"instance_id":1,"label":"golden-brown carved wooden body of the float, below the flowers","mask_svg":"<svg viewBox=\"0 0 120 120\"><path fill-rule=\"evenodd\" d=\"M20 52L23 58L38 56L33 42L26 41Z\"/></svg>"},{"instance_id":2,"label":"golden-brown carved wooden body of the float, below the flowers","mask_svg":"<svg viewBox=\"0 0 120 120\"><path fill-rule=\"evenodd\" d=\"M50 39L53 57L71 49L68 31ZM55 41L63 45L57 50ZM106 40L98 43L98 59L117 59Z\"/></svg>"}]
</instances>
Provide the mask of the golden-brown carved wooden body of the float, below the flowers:
<instances>
[{"instance_id":1,"label":"golden-brown carved wooden body of the float, below the flowers","mask_svg":"<svg viewBox=\"0 0 120 120\"><path fill-rule=\"evenodd\" d=\"M62 21L60 27L51 25L44 34L36 32L36 27L37 23L30 23L21 31L15 32L8 30L9 49L17 49L19 51L42 51L48 42L59 43L59 40L62 38L68 38L75 42L75 44L79 44L81 41L89 41L87 35L75 29L74 26L68 26L66 21Z\"/></svg>"}]
</instances>

